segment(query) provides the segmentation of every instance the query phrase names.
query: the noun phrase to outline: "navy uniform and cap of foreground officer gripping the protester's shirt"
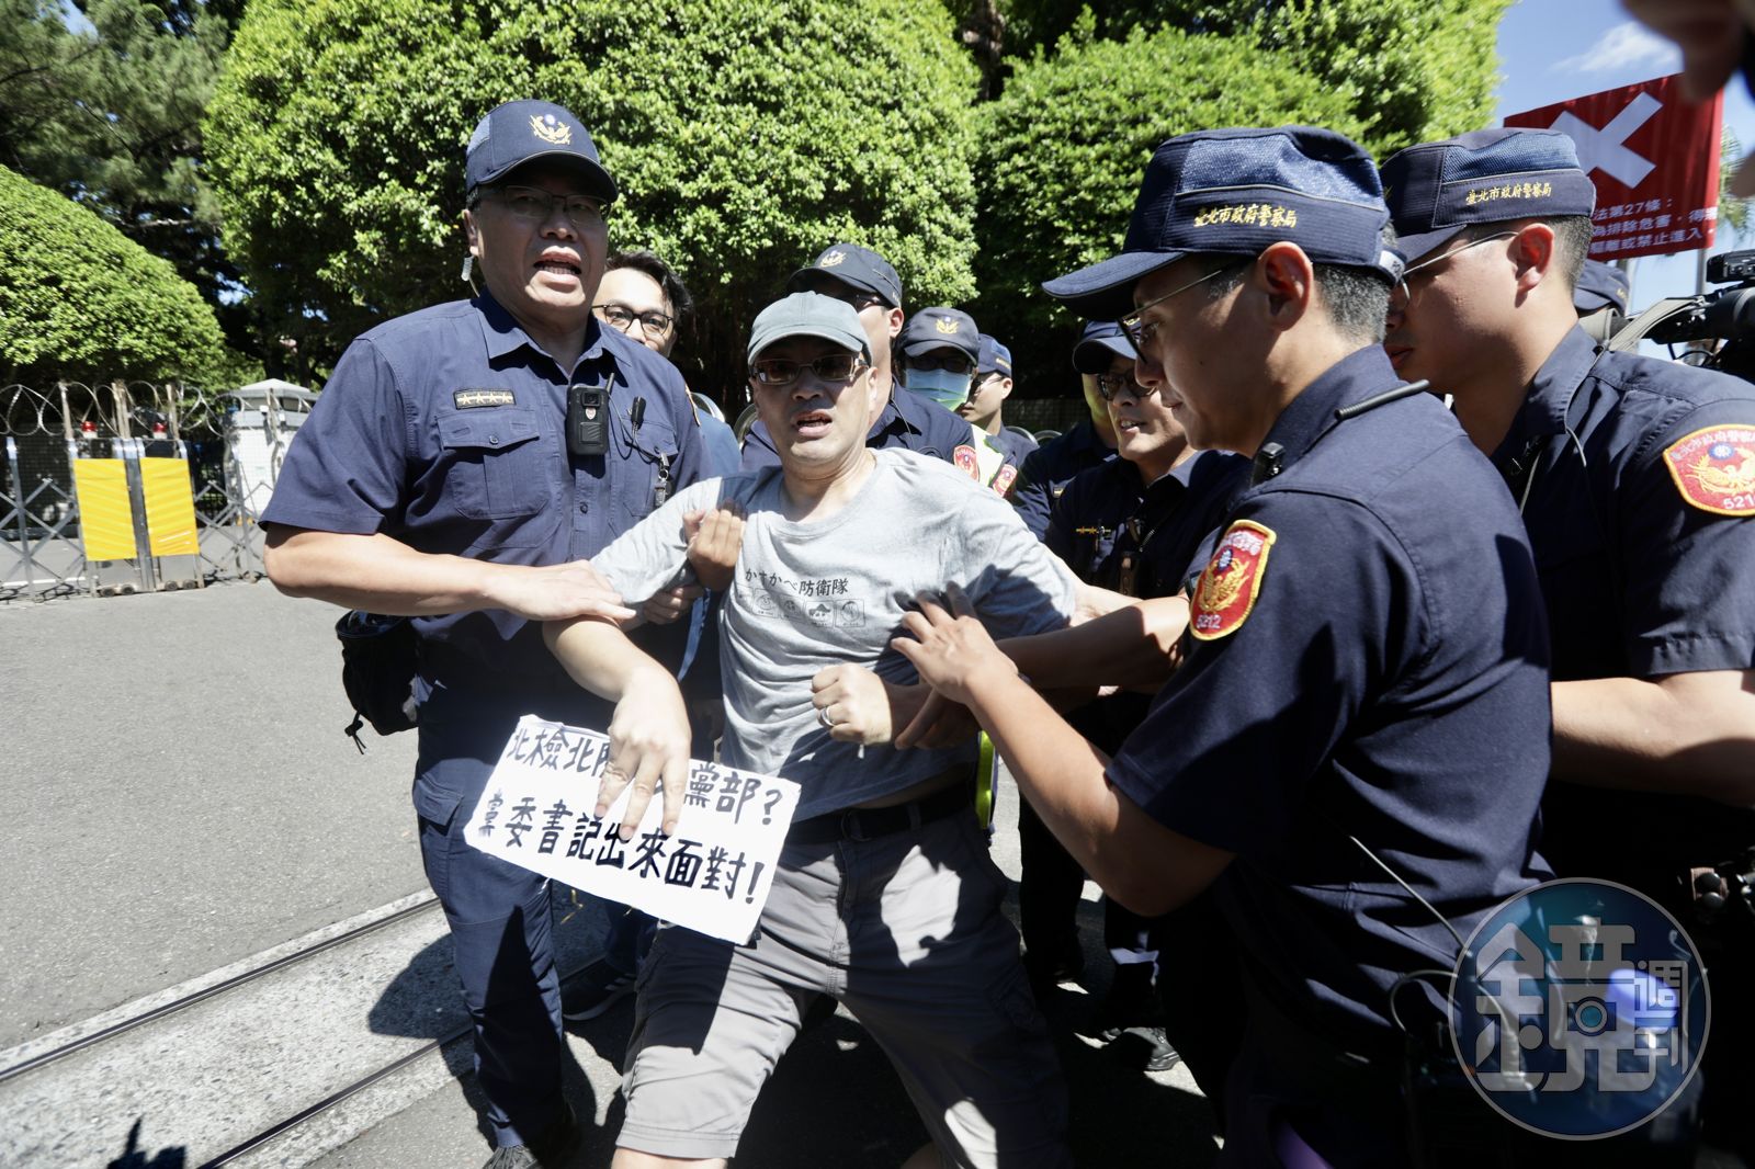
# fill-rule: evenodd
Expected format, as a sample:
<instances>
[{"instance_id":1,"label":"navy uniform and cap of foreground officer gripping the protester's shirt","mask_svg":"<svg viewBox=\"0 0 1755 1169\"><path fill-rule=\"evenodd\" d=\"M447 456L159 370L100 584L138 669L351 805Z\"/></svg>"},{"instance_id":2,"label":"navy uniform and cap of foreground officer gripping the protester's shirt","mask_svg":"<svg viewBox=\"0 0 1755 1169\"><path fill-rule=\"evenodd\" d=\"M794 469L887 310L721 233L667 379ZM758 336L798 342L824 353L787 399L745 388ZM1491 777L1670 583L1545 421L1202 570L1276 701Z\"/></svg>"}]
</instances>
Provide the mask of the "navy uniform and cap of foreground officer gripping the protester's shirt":
<instances>
[{"instance_id":1,"label":"navy uniform and cap of foreground officer gripping the protester's shirt","mask_svg":"<svg viewBox=\"0 0 1755 1169\"><path fill-rule=\"evenodd\" d=\"M1153 156L1123 253L1044 288L1114 316L1185 255L1253 256L1283 239L1388 283L1400 263L1381 251L1386 221L1369 156L1341 135L1192 133ZM1450 969L1451 927L1467 936L1544 874L1536 567L1499 476L1378 346L1281 411L1251 479L1192 590L1181 667L1107 779L1234 853L1211 886L1250 992L1223 1162L1304 1148L1402 1165L1392 990ZM1434 993L1397 1008L1444 1015Z\"/></svg>"}]
</instances>

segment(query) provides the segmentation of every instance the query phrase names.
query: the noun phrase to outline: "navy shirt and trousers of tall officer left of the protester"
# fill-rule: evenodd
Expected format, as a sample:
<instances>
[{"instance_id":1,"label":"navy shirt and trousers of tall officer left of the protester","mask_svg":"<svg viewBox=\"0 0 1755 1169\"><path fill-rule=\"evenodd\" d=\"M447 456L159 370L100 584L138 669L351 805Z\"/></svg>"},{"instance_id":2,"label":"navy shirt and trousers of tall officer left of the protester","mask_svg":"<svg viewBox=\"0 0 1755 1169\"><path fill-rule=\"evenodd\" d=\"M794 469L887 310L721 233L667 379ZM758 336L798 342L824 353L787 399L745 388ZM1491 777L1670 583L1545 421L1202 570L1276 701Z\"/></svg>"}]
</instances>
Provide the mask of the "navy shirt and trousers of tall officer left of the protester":
<instances>
[{"instance_id":1,"label":"navy shirt and trousers of tall officer left of the protester","mask_svg":"<svg viewBox=\"0 0 1755 1169\"><path fill-rule=\"evenodd\" d=\"M567 370L490 295L379 325L335 365L263 523L383 532L495 563L595 555L700 477L704 453L676 369L595 319L588 328ZM604 455L569 455L574 383L609 386ZM541 623L488 609L414 627L421 855L451 923L495 1141L525 1144L562 1108L548 883L470 848L462 828L521 714L604 728L612 707L567 678Z\"/></svg>"}]
</instances>

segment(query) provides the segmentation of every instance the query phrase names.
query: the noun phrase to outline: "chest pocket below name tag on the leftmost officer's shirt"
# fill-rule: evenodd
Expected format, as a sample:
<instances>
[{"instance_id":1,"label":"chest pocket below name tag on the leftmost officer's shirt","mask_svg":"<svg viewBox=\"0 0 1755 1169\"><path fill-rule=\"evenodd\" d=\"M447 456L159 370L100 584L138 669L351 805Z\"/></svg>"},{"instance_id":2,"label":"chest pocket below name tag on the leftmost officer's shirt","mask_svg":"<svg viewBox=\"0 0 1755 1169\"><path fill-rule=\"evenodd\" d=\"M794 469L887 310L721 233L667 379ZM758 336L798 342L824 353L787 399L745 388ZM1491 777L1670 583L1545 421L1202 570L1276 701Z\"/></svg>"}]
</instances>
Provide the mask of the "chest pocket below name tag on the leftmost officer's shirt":
<instances>
[{"instance_id":1,"label":"chest pocket below name tag on the leftmost officer's shirt","mask_svg":"<svg viewBox=\"0 0 1755 1169\"><path fill-rule=\"evenodd\" d=\"M439 420L446 493L469 520L532 516L549 498L542 430L530 411L491 409Z\"/></svg>"}]
</instances>

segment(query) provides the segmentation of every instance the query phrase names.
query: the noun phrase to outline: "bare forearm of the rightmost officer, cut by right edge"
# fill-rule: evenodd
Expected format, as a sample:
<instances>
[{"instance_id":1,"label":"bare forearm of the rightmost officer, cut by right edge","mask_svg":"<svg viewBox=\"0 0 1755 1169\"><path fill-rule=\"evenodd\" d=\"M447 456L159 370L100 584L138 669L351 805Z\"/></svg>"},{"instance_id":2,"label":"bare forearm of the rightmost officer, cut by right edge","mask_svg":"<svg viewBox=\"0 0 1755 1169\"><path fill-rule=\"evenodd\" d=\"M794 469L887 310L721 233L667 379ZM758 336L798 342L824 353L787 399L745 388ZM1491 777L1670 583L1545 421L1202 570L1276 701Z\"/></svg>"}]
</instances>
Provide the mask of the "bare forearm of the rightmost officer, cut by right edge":
<instances>
[{"instance_id":1,"label":"bare forearm of the rightmost officer, cut by right edge","mask_svg":"<svg viewBox=\"0 0 1755 1169\"><path fill-rule=\"evenodd\" d=\"M1755 806L1755 671L1553 683L1553 776Z\"/></svg>"}]
</instances>

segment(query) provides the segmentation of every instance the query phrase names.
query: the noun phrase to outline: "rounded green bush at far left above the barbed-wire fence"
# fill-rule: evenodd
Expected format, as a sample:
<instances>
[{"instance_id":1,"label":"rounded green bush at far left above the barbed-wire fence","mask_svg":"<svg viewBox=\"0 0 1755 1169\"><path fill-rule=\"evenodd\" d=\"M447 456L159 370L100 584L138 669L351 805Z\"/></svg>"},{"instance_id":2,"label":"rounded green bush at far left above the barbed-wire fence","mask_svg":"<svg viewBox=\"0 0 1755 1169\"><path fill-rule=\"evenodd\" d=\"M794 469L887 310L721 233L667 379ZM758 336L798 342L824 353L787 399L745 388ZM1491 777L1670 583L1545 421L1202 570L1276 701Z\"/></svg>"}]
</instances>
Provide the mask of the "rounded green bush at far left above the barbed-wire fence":
<instances>
[{"instance_id":1,"label":"rounded green bush at far left above the barbed-wire fence","mask_svg":"<svg viewBox=\"0 0 1755 1169\"><path fill-rule=\"evenodd\" d=\"M230 384L249 372L168 262L0 167L0 383Z\"/></svg>"}]
</instances>

